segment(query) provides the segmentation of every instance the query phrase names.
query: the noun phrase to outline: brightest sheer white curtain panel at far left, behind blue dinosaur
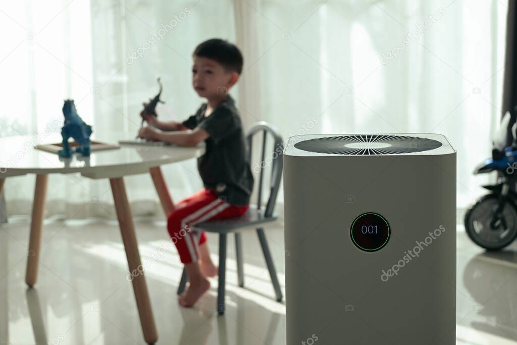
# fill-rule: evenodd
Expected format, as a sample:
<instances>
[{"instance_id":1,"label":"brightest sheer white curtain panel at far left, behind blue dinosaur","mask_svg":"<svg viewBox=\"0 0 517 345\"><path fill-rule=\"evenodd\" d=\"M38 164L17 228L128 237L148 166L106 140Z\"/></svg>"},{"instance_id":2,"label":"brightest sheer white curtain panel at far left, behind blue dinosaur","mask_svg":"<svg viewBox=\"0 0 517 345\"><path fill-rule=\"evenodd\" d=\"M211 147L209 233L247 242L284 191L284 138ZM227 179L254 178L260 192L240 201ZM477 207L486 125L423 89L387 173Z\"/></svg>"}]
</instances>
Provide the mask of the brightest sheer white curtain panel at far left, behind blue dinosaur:
<instances>
[{"instance_id":1,"label":"brightest sheer white curtain panel at far left, behind blue dinosaur","mask_svg":"<svg viewBox=\"0 0 517 345\"><path fill-rule=\"evenodd\" d=\"M0 5L0 135L34 134L49 142L58 133L56 119L65 98L92 123L92 35L88 2L2 2ZM1 149L1 148L0 148ZM34 176L8 178L5 196L9 214L30 214ZM93 184L78 176L52 175L48 214L73 214L86 209Z\"/></svg>"}]
</instances>

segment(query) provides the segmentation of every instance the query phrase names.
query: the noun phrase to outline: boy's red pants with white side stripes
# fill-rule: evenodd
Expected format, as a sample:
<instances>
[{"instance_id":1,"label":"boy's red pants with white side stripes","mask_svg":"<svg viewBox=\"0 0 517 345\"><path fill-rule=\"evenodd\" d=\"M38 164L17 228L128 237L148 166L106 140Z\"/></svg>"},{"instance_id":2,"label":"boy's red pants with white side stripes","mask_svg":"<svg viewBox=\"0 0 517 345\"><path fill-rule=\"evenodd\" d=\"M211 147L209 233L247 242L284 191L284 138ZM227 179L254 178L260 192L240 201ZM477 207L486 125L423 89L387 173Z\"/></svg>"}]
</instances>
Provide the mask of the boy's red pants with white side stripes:
<instances>
[{"instance_id":1,"label":"boy's red pants with white side stripes","mask_svg":"<svg viewBox=\"0 0 517 345\"><path fill-rule=\"evenodd\" d=\"M184 264L199 260L198 244L206 242L206 235L195 230L195 224L213 219L227 219L243 215L249 205L230 205L210 189L202 189L176 205L167 218L167 230Z\"/></svg>"}]
</instances>

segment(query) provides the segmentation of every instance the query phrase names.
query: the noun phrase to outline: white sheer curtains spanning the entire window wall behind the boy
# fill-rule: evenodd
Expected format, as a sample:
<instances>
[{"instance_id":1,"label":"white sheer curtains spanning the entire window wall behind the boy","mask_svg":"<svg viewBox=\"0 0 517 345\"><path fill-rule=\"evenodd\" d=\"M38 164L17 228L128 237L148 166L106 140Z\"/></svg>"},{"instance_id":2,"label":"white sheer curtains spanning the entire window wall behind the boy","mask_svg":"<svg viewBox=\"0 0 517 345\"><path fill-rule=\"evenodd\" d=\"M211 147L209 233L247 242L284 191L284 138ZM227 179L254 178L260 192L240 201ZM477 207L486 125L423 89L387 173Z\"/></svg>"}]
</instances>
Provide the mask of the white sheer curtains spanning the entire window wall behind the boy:
<instances>
[{"instance_id":1,"label":"white sheer curtains spanning the entire window wall behind the boy","mask_svg":"<svg viewBox=\"0 0 517 345\"><path fill-rule=\"evenodd\" d=\"M199 106L191 53L236 41L245 72L232 91L246 126L293 134L437 132L458 151L459 204L481 192L472 169L500 115L506 0L24 0L0 5L0 135L40 133L65 98L115 142L139 127L164 84L164 119ZM431 18L430 18L431 16ZM410 34L410 35L409 35ZM391 56L396 54L397 56ZM58 129L55 129L58 131ZM1 149L1 148L0 148ZM175 201L201 187L195 161L164 168ZM133 213L158 214L148 176L126 178ZM9 214L28 214L33 176L5 185ZM280 201L282 199L279 194ZM48 214L108 216L106 181L51 176ZM100 202L93 203L92 200Z\"/></svg>"}]
</instances>

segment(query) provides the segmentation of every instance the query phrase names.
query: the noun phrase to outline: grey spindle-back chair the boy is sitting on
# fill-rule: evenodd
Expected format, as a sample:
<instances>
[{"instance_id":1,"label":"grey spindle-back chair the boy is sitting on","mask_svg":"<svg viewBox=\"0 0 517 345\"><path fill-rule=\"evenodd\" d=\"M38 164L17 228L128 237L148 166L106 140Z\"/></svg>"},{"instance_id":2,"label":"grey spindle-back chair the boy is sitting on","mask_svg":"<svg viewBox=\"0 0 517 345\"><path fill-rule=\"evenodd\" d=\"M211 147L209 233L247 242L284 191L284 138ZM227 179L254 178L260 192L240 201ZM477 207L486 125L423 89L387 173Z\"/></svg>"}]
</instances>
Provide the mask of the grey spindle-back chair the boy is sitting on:
<instances>
[{"instance_id":1,"label":"grey spindle-back chair the boy is sitting on","mask_svg":"<svg viewBox=\"0 0 517 345\"><path fill-rule=\"evenodd\" d=\"M283 142L282 137L278 131L267 124L266 122L258 122L254 124L247 134L247 142L249 149L249 160L251 162L252 152L252 140L253 136L259 132L262 132L262 153L261 153L261 167L260 174L258 176L258 196L256 205L250 205L248 211L238 218L212 220L195 224L194 227L199 231L214 232L219 234L219 287L217 295L217 311L220 315L224 314L224 294L225 294L225 273L226 273L226 239L229 233L235 233L235 251L237 257L237 276L239 287L244 287L244 268L242 262L242 239L240 231L246 228L255 228L258 240L264 253L264 259L266 260L267 269L275 295L278 302L282 301L282 291L280 290L280 284L278 282L277 272L273 260L271 259L271 253L267 244L266 235L264 234L263 225L268 222L275 221L278 214L274 212L275 203L277 201L278 189L280 186L280 180L282 178L282 149ZM270 134L273 138L273 154L271 159L271 179L269 186L269 198L266 202L265 209L262 206L262 187L264 182L264 167L265 167L265 154L266 154L266 139L267 134ZM256 183L256 180L255 180ZM187 284L187 272L183 269L181 274L181 280L178 287L178 295L183 293Z\"/></svg>"}]
</instances>

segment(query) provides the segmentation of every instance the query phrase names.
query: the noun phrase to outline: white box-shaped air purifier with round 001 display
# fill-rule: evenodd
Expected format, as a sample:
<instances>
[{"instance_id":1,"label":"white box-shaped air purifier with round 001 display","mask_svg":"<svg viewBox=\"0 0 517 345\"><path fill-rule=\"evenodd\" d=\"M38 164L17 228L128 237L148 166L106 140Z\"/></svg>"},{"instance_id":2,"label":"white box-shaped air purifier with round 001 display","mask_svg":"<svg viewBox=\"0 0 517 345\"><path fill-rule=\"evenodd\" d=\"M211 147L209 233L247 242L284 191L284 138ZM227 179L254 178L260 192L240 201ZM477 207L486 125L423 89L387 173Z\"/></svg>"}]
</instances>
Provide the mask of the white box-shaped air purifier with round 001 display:
<instances>
[{"instance_id":1,"label":"white box-shaped air purifier with round 001 display","mask_svg":"<svg viewBox=\"0 0 517 345\"><path fill-rule=\"evenodd\" d=\"M283 163L287 344L455 344L447 139L295 136Z\"/></svg>"}]
</instances>

